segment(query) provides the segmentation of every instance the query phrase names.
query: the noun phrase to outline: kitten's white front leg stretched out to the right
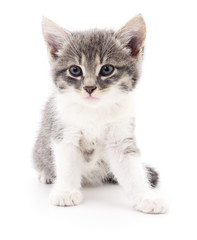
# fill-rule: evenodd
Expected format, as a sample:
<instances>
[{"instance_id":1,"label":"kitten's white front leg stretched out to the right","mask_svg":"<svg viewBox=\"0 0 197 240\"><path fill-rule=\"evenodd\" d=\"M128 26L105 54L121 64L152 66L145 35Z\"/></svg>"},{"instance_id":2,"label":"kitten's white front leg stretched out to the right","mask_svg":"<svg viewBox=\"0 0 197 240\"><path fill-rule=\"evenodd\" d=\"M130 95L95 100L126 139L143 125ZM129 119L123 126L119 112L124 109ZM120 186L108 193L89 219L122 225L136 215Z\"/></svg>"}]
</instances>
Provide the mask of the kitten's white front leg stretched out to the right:
<instances>
[{"instance_id":1,"label":"kitten's white front leg stretched out to the right","mask_svg":"<svg viewBox=\"0 0 197 240\"><path fill-rule=\"evenodd\" d=\"M133 138L108 142L111 171L126 190L133 207L145 213L165 213L167 205L151 188L138 155Z\"/></svg>"}]
</instances>

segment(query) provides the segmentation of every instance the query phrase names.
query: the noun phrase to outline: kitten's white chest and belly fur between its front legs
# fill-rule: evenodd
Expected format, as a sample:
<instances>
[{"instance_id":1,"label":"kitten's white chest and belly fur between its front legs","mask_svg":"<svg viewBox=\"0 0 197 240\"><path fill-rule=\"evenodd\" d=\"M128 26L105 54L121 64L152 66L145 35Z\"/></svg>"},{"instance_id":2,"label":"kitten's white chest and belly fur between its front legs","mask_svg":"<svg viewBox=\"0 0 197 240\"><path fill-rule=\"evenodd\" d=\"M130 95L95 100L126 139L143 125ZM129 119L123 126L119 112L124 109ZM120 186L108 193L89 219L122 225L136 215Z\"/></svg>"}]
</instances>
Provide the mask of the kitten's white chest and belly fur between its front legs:
<instances>
[{"instance_id":1,"label":"kitten's white chest and belly fur between its front legs","mask_svg":"<svg viewBox=\"0 0 197 240\"><path fill-rule=\"evenodd\" d=\"M64 126L65 141L78 146L84 155L84 182L99 183L109 172L105 157L108 133L133 117L131 95L119 103L88 108L71 102L64 94L59 93L56 95L55 104L57 117Z\"/></svg>"}]
</instances>

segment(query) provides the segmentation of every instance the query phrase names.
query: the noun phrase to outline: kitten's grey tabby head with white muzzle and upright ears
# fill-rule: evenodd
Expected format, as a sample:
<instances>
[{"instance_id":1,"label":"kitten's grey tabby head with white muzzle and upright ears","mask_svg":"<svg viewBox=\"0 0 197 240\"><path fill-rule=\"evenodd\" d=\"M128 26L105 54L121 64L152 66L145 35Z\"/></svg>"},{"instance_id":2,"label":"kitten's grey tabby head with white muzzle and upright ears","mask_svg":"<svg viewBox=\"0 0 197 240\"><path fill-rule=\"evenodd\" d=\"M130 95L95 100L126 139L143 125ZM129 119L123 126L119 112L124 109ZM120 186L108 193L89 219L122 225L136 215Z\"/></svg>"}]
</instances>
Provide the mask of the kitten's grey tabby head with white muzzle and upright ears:
<instances>
[{"instance_id":1,"label":"kitten's grey tabby head with white muzzle and upright ears","mask_svg":"<svg viewBox=\"0 0 197 240\"><path fill-rule=\"evenodd\" d=\"M146 26L138 15L119 31L69 32L43 18L53 79L62 94L91 107L120 101L136 85Z\"/></svg>"}]
</instances>

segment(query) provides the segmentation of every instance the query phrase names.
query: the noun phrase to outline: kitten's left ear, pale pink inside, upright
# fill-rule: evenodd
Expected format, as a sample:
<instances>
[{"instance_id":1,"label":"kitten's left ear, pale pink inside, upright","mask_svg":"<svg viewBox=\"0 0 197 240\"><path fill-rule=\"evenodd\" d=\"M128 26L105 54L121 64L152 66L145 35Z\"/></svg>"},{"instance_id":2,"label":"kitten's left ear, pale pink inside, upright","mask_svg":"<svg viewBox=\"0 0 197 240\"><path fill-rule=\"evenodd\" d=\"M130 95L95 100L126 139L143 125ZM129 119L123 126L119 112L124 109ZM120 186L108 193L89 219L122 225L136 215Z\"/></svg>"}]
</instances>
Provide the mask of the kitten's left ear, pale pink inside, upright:
<instances>
[{"instance_id":1,"label":"kitten's left ear, pale pink inside, upright","mask_svg":"<svg viewBox=\"0 0 197 240\"><path fill-rule=\"evenodd\" d=\"M52 58L57 58L58 52L69 40L71 33L45 17L42 19L42 32Z\"/></svg>"}]
</instances>

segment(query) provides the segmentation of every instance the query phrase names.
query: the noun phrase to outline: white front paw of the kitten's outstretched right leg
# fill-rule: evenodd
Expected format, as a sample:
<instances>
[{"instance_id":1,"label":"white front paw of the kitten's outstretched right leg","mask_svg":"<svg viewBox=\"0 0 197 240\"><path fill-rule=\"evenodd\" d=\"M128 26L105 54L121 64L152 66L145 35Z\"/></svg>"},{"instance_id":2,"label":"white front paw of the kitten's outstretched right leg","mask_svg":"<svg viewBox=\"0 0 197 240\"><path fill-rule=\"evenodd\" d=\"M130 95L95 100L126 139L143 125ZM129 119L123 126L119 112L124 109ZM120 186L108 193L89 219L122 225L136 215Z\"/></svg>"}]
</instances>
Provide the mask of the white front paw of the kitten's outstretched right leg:
<instances>
[{"instance_id":1,"label":"white front paw of the kitten's outstretched right leg","mask_svg":"<svg viewBox=\"0 0 197 240\"><path fill-rule=\"evenodd\" d=\"M144 213L166 213L168 206L162 198L157 196L142 196L135 200L133 207Z\"/></svg>"}]
</instances>

